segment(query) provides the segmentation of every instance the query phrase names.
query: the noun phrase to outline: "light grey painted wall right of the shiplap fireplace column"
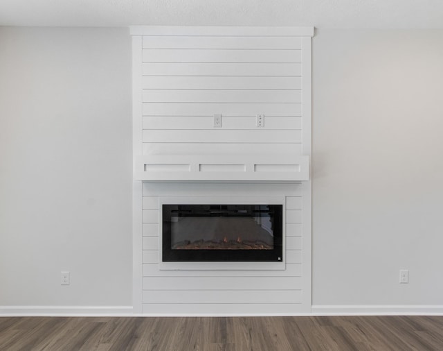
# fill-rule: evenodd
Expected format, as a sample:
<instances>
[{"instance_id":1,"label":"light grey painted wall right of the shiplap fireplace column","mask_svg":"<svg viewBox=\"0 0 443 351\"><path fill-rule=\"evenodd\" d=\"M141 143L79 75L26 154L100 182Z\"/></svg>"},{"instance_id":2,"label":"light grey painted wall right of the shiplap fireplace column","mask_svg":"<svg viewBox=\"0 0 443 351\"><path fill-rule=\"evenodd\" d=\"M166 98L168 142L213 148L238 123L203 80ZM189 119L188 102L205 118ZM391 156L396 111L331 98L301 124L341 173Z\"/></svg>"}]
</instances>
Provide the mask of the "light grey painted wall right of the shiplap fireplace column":
<instances>
[{"instance_id":1,"label":"light grey painted wall right of the shiplap fireplace column","mask_svg":"<svg viewBox=\"0 0 443 351\"><path fill-rule=\"evenodd\" d=\"M443 31L313 49L313 305L443 305Z\"/></svg>"}]
</instances>

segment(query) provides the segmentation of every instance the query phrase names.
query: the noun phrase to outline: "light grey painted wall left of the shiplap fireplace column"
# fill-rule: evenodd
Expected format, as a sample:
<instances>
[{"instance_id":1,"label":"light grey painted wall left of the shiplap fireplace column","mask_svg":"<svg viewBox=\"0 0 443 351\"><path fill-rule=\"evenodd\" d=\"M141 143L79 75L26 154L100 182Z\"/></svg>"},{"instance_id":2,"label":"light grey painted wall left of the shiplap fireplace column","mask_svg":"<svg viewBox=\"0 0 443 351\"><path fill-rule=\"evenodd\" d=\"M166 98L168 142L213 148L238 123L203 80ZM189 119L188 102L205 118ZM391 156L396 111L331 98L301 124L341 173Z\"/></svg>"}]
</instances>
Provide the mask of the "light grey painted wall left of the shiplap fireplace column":
<instances>
[{"instance_id":1,"label":"light grey painted wall left of the shiplap fireplace column","mask_svg":"<svg viewBox=\"0 0 443 351\"><path fill-rule=\"evenodd\" d=\"M0 306L132 305L129 31L3 27L0 48Z\"/></svg>"}]
</instances>

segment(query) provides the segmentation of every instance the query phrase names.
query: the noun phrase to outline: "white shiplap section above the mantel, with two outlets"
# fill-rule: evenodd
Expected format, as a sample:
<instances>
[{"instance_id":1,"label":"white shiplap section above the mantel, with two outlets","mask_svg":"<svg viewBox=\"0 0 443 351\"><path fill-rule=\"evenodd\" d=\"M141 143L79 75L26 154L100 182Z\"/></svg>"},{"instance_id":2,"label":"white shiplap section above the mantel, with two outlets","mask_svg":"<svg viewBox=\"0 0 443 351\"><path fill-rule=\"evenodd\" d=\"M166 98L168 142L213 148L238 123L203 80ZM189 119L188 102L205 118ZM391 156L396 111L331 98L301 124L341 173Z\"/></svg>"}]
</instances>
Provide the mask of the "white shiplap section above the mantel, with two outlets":
<instances>
[{"instance_id":1,"label":"white shiplap section above the mantel, with two outlets","mask_svg":"<svg viewBox=\"0 0 443 351\"><path fill-rule=\"evenodd\" d=\"M143 154L300 155L305 37L293 28L209 29L141 30Z\"/></svg>"}]
</instances>

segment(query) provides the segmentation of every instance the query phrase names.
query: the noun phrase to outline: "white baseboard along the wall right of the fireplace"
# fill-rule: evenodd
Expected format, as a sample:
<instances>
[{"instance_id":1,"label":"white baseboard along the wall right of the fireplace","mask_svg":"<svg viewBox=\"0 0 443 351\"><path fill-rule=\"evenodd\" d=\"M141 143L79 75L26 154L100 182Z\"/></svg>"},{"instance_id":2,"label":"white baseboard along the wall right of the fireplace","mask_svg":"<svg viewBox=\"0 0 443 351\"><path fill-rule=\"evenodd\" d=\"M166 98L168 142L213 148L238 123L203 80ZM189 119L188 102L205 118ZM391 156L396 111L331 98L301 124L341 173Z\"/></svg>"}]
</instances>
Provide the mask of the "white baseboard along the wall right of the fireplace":
<instances>
[{"instance_id":1,"label":"white baseboard along the wall right of the fireplace","mask_svg":"<svg viewBox=\"0 0 443 351\"><path fill-rule=\"evenodd\" d=\"M312 305L313 316L443 316L443 305Z\"/></svg>"}]
</instances>

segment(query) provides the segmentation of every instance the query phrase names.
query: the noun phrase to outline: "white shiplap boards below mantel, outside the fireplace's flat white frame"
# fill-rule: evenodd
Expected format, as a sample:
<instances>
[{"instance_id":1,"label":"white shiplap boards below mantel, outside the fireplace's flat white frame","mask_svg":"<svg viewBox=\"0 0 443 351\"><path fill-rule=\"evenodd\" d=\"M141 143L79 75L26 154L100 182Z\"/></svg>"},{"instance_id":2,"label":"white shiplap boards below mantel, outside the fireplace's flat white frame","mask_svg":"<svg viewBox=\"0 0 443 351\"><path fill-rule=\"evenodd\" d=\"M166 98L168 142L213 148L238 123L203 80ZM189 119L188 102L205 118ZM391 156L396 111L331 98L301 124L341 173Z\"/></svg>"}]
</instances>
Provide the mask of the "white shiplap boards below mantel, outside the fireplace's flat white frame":
<instances>
[{"instance_id":1,"label":"white shiplap boards below mantel, outside the fireplace's flat white frame","mask_svg":"<svg viewBox=\"0 0 443 351\"><path fill-rule=\"evenodd\" d=\"M159 269L159 196L231 194L248 198L257 184L143 183L143 312L146 314L291 314L305 310L302 276L302 185L262 184L264 197L284 196L286 269L239 271ZM205 265L205 263L202 263ZM307 289L309 291L309 289Z\"/></svg>"}]
</instances>

